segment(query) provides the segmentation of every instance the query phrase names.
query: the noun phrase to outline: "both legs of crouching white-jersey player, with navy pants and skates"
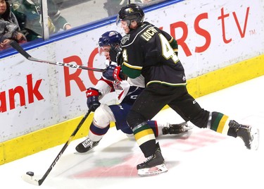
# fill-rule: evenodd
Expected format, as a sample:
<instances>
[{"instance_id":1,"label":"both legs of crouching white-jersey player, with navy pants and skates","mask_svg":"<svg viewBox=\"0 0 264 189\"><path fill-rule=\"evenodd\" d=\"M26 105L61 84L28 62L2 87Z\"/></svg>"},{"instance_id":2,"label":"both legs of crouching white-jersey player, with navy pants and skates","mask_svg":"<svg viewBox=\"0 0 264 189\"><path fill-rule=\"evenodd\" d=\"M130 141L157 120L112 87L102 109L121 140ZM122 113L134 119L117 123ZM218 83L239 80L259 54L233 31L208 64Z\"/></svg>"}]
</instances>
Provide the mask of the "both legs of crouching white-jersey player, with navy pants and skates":
<instances>
[{"instance_id":1,"label":"both legs of crouching white-jersey player, with navy pants and skates","mask_svg":"<svg viewBox=\"0 0 264 189\"><path fill-rule=\"evenodd\" d=\"M84 141L80 142L80 144L75 147L75 150L77 150L77 152L84 153L96 147L101 138L103 138L103 135L107 133L110 121L115 122L115 126L118 130L122 130L122 132L127 135L132 135L133 132L127 125L126 121L126 116L130 111L131 106L131 104L118 104L111 106L101 104L101 106L94 111L94 119L89 127L88 137ZM156 121L148 121L148 123L156 136L183 133L188 129L187 124L183 123L164 124L157 123Z\"/></svg>"}]
</instances>

